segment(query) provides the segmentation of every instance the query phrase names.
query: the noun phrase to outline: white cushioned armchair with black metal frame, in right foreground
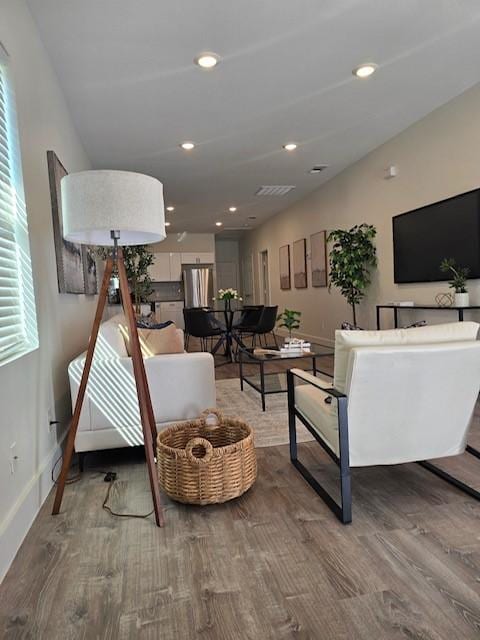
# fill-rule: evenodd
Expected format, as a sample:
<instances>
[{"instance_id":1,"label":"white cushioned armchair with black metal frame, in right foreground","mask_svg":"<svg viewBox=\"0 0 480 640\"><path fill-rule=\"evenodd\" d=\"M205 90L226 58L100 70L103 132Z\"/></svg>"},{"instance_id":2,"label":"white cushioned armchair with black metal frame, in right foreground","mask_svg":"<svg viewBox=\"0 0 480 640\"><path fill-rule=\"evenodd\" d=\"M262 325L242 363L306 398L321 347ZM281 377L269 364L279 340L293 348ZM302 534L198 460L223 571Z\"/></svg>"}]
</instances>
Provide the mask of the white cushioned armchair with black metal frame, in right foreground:
<instances>
[{"instance_id":1,"label":"white cushioned armchair with black metal frame, in right foreground","mask_svg":"<svg viewBox=\"0 0 480 640\"><path fill-rule=\"evenodd\" d=\"M352 520L351 467L420 462L480 499L427 462L465 450L480 457L467 445L480 390L479 326L337 331L333 385L288 372L291 461L344 524ZM340 467L340 504L298 460L297 418Z\"/></svg>"}]
</instances>

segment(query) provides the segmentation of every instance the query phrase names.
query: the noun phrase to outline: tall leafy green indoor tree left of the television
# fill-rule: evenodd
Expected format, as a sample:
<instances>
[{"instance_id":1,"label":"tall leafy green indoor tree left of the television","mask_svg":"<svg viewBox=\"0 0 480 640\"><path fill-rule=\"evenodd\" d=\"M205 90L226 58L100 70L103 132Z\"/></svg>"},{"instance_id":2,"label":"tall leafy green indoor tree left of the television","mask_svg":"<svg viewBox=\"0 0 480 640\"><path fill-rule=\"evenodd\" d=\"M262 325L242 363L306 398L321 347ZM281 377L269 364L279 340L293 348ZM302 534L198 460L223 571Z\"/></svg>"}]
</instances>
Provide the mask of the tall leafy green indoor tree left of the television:
<instances>
[{"instance_id":1,"label":"tall leafy green indoor tree left of the television","mask_svg":"<svg viewBox=\"0 0 480 640\"><path fill-rule=\"evenodd\" d=\"M355 225L349 231L335 229L328 235L333 242L330 251L330 283L338 287L352 307L353 323L357 324L356 305L365 297L370 284L370 271L377 266L373 238L377 230L371 224Z\"/></svg>"}]
</instances>

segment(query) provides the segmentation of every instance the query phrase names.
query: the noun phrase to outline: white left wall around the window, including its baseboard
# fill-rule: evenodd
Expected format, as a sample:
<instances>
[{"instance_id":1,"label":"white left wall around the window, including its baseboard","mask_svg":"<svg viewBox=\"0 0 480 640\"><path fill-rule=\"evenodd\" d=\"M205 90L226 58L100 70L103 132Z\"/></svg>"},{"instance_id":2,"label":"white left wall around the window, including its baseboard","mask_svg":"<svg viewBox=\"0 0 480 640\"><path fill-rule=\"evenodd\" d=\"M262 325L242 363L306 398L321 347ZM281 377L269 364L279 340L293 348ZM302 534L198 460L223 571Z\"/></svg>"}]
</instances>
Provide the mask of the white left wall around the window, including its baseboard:
<instances>
[{"instance_id":1,"label":"white left wall around the window, including its baseboard","mask_svg":"<svg viewBox=\"0 0 480 640\"><path fill-rule=\"evenodd\" d=\"M51 488L70 413L67 364L86 345L96 299L57 287L47 149L68 171L89 168L24 0L0 0L0 41L15 81L40 348L0 367L0 579ZM48 411L63 424L48 429ZM17 471L8 457L16 442Z\"/></svg>"}]
</instances>

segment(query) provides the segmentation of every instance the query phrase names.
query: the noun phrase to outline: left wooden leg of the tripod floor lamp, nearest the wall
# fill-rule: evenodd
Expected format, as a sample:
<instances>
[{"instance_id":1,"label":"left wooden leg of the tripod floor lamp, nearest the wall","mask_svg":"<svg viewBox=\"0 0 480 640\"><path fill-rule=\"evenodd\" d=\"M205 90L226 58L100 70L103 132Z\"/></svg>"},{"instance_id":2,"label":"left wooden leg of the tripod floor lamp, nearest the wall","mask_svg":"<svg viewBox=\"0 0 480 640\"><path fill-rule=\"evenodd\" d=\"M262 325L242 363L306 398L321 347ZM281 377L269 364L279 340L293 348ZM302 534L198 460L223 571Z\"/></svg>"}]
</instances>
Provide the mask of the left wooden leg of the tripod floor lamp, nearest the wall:
<instances>
[{"instance_id":1,"label":"left wooden leg of the tripod floor lamp, nearest the wall","mask_svg":"<svg viewBox=\"0 0 480 640\"><path fill-rule=\"evenodd\" d=\"M55 501L53 503L52 514L57 515L60 511L62 504L63 492L65 490L65 483L67 481L68 470L72 462L73 448L75 446L75 436L77 435L78 422L80 420L80 413L82 411L83 400L85 398L85 391L87 389L88 377L90 375L90 369L92 367L93 354L95 351L95 345L97 343L98 329L102 321L103 310L105 308L105 302L108 295L108 283L112 275L113 258L108 258L105 264L105 273L103 274L102 286L100 288L100 294L98 296L97 311L95 313L95 320L93 321L92 333L90 334L90 340L88 342L87 355L85 357L85 365L83 367L82 378L80 380L80 386L78 388L77 400L75 402L75 409L73 411L72 421L68 431L67 444L63 454L62 470L58 477L57 491L55 493Z\"/></svg>"}]
</instances>

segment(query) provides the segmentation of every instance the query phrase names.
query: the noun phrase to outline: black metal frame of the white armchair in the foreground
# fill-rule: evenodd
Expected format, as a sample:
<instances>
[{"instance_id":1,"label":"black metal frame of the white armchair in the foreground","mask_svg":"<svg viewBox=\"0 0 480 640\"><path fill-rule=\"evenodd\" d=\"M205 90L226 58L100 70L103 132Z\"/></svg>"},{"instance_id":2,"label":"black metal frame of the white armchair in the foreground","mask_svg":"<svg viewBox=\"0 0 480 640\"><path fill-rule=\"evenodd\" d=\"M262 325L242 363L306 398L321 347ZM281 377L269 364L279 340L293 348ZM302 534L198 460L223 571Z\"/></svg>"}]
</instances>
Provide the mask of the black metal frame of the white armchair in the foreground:
<instances>
[{"instance_id":1,"label":"black metal frame of the white armchair in the foreground","mask_svg":"<svg viewBox=\"0 0 480 640\"><path fill-rule=\"evenodd\" d=\"M306 381L303 377L303 382L312 384L331 398L337 400L337 412L338 412L338 439L339 439L339 455L337 456L329 446L323 441L322 437L318 434L313 425L298 411L295 406L295 377L296 374L289 370L287 371L287 389L288 389L288 428L290 436L290 460L293 466L300 472L305 478L312 489L322 498L325 504L333 511L337 518L343 524L349 524L352 522L352 487L351 487L351 473L350 473L350 456L348 445L348 398L347 396L334 389L333 387L325 387L320 382L314 383L313 381ZM300 376L297 376L300 377ZM315 438L315 440L326 451L330 458L340 469L340 504L326 491L324 487L313 477L310 471L298 460L297 451L297 429L296 418L306 427L309 433ZM466 452L480 459L480 451L466 446ZM427 469L431 473L435 474L442 480L445 480L449 484L452 484L457 489L460 489L464 493L468 494L476 500L480 500L480 492L471 487L470 485L462 482L455 476L450 475L440 467L428 462L427 460L420 460L417 464L421 465L424 469Z\"/></svg>"}]
</instances>

